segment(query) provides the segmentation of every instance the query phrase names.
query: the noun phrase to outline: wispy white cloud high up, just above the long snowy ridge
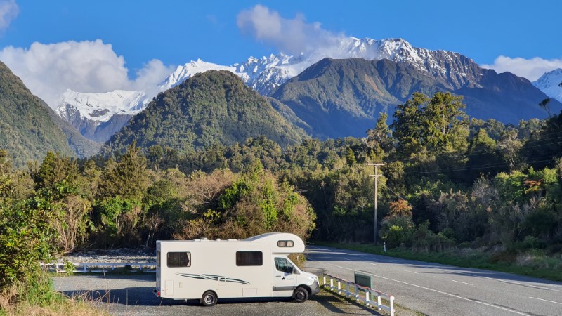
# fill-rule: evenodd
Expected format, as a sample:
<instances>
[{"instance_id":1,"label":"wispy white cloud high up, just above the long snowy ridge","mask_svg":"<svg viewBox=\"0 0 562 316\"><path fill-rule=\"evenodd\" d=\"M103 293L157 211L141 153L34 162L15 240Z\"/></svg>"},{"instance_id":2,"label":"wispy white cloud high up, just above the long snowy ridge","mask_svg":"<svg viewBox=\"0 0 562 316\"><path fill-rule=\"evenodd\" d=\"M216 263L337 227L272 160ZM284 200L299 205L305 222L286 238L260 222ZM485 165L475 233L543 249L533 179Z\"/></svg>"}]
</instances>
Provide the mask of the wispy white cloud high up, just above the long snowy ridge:
<instances>
[{"instance_id":1,"label":"wispy white cloud high up, just above the long snowy ridge","mask_svg":"<svg viewBox=\"0 0 562 316\"><path fill-rule=\"evenodd\" d=\"M322 29L318 22L307 23L303 15L286 19L259 4L240 12L237 25L244 34L291 54L333 47L344 37Z\"/></svg>"}]
</instances>

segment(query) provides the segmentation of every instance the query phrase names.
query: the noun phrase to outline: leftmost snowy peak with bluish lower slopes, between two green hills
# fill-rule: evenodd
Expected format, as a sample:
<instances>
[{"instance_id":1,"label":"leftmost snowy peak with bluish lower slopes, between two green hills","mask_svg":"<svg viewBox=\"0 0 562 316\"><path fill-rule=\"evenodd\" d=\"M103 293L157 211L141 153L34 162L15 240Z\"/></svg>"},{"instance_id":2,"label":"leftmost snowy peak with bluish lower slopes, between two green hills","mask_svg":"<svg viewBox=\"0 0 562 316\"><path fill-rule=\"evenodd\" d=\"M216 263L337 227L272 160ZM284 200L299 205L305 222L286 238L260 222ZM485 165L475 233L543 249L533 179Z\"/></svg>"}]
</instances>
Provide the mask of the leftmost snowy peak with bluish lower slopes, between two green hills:
<instances>
[{"instance_id":1,"label":"leftmost snowy peak with bluish lower slopes, between two green hills","mask_svg":"<svg viewBox=\"0 0 562 316\"><path fill-rule=\"evenodd\" d=\"M67 90L55 112L86 138L103 143L147 104L143 91L81 93Z\"/></svg>"}]
</instances>

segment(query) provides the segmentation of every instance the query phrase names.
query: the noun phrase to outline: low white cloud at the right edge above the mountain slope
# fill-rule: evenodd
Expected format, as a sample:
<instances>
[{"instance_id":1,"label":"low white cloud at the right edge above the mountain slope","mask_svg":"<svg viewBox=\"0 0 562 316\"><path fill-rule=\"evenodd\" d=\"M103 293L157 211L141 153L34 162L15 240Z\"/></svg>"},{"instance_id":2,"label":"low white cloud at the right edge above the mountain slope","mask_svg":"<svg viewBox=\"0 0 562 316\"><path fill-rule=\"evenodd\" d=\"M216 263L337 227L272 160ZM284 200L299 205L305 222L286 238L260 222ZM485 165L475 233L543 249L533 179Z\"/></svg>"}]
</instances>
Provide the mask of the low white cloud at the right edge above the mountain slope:
<instances>
[{"instance_id":1,"label":"low white cloud at the right edge above the mountain slope","mask_svg":"<svg viewBox=\"0 0 562 316\"><path fill-rule=\"evenodd\" d=\"M498 73L511 72L530 81L536 81L544 72L562 68L562 58L547 60L540 57L525 59L499 56L492 65L481 65L481 67L491 68Z\"/></svg>"}]
</instances>

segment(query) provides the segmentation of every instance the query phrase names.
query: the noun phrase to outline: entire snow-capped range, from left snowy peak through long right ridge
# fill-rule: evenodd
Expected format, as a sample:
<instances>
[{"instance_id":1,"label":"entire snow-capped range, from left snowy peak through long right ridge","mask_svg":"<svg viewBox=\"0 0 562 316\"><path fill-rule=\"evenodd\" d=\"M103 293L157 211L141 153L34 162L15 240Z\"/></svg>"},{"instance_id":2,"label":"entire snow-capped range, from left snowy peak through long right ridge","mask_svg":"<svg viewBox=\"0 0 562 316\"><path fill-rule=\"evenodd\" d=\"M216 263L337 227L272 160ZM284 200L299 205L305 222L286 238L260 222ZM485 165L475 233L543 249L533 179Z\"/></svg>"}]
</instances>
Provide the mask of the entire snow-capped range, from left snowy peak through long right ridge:
<instances>
[{"instance_id":1,"label":"entire snow-capped range, from left snowy peak through long right ridge","mask_svg":"<svg viewBox=\"0 0 562 316\"><path fill-rule=\"evenodd\" d=\"M263 58L250 57L242 63L230 66L202 60L188 62L178 66L152 91L165 91L181 84L192 75L207 70L228 70L240 76L245 84L259 93L270 95L285 81L296 77L315 62L327 57L367 60L386 58L413 67L450 88L478 87L478 79L482 76L481 68L476 62L459 53L415 48L404 39L375 40L344 37L329 48L318 48L300 55L280 53ZM109 124L110 119L116 115L120 118L119 124L126 124L125 117L141 112L152 97L154 96L149 96L144 91L119 90L107 93L67 91L56 106L55 112L70 121L84 136L103 141L108 138L107 135L95 136L100 129L99 126ZM109 125L112 126L113 131L120 128L119 124L111 122Z\"/></svg>"}]
</instances>

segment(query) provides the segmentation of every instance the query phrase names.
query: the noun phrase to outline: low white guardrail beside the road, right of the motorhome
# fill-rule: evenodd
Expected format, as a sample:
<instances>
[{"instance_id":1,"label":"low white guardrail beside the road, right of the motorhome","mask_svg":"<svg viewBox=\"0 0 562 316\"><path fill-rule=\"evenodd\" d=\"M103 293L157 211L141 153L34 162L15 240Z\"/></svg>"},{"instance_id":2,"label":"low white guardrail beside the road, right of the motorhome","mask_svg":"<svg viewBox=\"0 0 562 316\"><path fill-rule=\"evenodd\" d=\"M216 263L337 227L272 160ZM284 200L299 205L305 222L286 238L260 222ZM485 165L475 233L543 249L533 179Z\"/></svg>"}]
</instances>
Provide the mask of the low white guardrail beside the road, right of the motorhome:
<instances>
[{"instance_id":1,"label":"low white guardrail beside the road, right of the motorhome","mask_svg":"<svg viewBox=\"0 0 562 316\"><path fill-rule=\"evenodd\" d=\"M329 277L329 284L327 284L326 277ZM391 316L394 316L393 295L371 289L370 287L362 287L351 281L347 281L339 277L334 277L333 275L329 275L327 273L324 273L324 277L322 279L324 282L322 285L324 287L329 287L329 289L337 292L340 295L355 298L355 300L361 301L367 306L376 307L377 310L386 310L387 312L391 313ZM334 282L337 282L337 285L334 285ZM341 287L342 284L344 284L344 289L342 289ZM360 293L361 291L363 293ZM375 296L377 296L377 301L373 301ZM382 299L388 301L388 306L382 304Z\"/></svg>"}]
</instances>

